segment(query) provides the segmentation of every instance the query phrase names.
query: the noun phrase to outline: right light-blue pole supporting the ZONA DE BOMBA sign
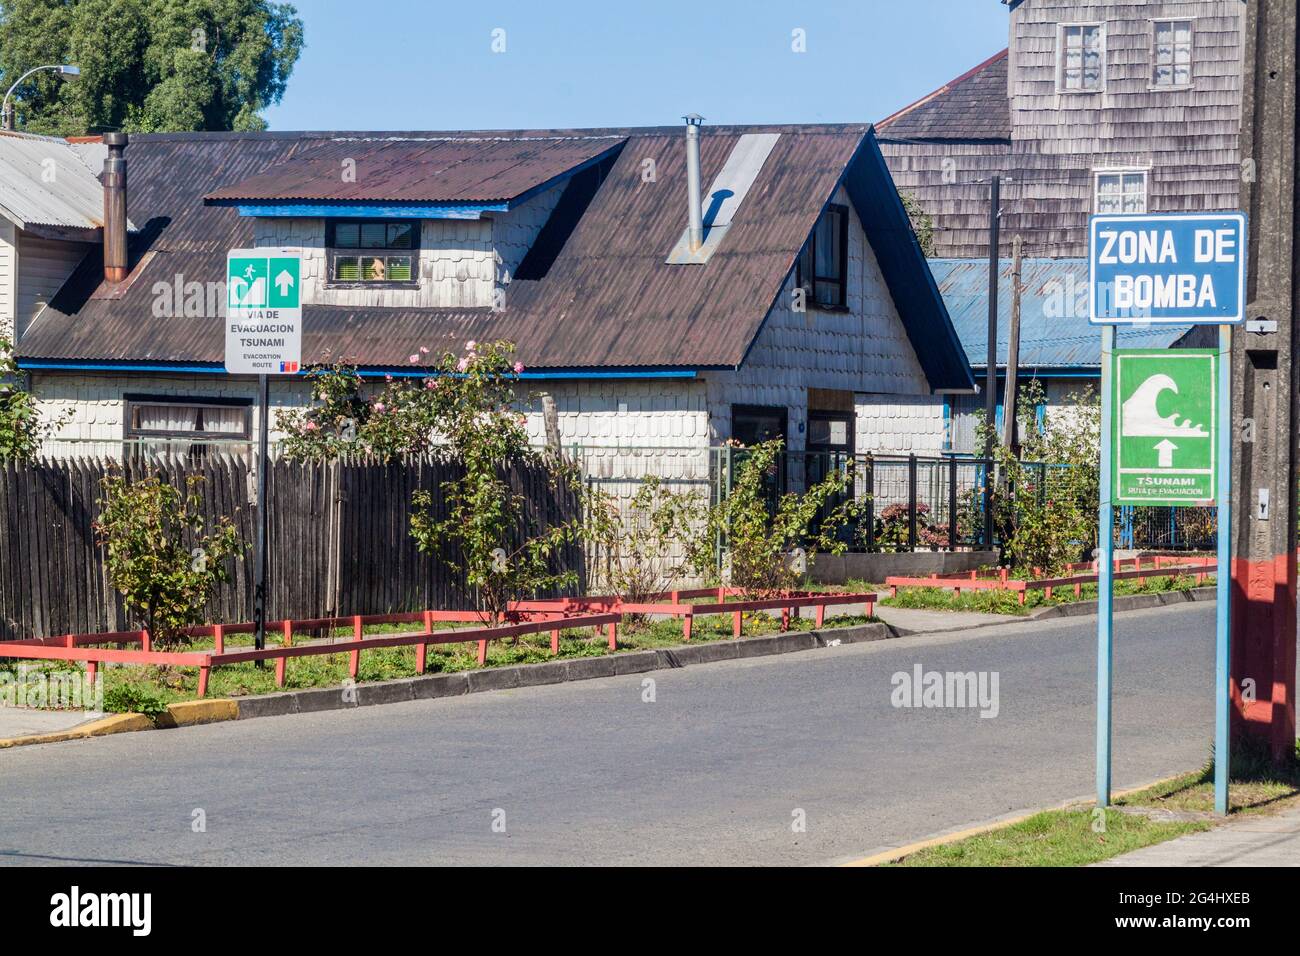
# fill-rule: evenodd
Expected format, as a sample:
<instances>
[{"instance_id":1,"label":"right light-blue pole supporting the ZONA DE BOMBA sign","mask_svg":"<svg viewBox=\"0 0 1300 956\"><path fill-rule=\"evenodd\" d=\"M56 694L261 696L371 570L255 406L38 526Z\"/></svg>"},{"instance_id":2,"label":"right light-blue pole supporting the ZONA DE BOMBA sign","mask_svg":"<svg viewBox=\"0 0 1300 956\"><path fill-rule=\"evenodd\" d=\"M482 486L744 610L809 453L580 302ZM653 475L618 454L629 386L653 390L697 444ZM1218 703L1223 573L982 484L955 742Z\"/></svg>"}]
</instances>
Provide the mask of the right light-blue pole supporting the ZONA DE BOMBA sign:
<instances>
[{"instance_id":1,"label":"right light-blue pole supporting the ZONA DE BOMBA sign","mask_svg":"<svg viewBox=\"0 0 1300 956\"><path fill-rule=\"evenodd\" d=\"M1232 326L1219 325L1218 368L1218 558L1214 566L1214 812L1227 813L1227 780L1231 762L1228 711L1228 652L1231 641L1231 554L1232 554Z\"/></svg>"}]
</instances>

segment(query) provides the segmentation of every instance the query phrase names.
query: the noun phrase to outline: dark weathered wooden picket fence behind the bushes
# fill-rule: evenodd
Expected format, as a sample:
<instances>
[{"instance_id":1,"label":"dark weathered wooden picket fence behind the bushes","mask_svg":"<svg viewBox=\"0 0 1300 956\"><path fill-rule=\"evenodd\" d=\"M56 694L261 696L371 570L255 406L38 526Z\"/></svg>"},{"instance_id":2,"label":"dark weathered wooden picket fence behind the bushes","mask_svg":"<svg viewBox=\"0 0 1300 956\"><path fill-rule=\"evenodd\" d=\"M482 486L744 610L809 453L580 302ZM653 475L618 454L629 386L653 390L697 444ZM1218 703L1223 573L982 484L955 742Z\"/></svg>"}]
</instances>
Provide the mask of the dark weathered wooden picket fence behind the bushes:
<instances>
[{"instance_id":1,"label":"dark weathered wooden picket fence behind the bushes","mask_svg":"<svg viewBox=\"0 0 1300 956\"><path fill-rule=\"evenodd\" d=\"M177 486L188 475L203 477L205 524L229 515L248 544L244 559L230 562L231 580L217 589L205 618L251 619L256 475L243 457L6 462L0 463L0 640L139 626L109 584L105 551L95 540L100 481L109 471L129 480L156 475ZM472 607L473 596L439 558L420 554L408 532L412 494L429 490L436 515L445 516L438 514L439 489L459 473L459 466L443 458L396 464L272 462L268 618ZM508 479L526 501L533 529L577 515L577 496L556 489L543 468L517 467ZM581 549L560 555L558 566L578 572L576 593L582 593Z\"/></svg>"}]
</instances>

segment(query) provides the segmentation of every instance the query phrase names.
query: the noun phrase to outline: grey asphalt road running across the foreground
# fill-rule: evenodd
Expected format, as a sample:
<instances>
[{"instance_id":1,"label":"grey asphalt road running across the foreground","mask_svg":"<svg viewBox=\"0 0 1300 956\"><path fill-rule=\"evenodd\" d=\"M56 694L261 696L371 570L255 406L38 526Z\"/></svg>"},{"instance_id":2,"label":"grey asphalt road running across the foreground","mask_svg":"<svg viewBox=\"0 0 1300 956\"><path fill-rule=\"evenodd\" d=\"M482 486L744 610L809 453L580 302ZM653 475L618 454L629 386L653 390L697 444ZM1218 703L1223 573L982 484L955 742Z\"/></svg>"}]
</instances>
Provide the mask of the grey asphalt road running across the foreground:
<instances>
[{"instance_id":1,"label":"grey asphalt road running across the foreground","mask_svg":"<svg viewBox=\"0 0 1300 956\"><path fill-rule=\"evenodd\" d=\"M1095 628L1010 624L16 748L0 752L0 862L852 858L1089 793ZM1115 786L1199 766L1214 606L1117 615L1117 632ZM916 663L997 671L997 717L894 708L892 675Z\"/></svg>"}]
</instances>

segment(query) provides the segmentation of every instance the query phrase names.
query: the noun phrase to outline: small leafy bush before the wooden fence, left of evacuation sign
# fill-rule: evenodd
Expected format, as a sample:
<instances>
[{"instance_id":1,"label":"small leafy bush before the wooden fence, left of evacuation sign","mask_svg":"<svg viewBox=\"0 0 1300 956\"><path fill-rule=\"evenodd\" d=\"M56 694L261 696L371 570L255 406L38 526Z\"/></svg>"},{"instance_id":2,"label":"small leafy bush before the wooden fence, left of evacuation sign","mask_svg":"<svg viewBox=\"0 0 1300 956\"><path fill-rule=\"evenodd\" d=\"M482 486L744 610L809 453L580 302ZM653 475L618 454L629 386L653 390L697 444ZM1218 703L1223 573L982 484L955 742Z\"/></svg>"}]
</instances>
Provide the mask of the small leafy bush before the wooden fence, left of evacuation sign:
<instances>
[{"instance_id":1,"label":"small leafy bush before the wooden fence, left of evacuation sign","mask_svg":"<svg viewBox=\"0 0 1300 956\"><path fill-rule=\"evenodd\" d=\"M198 475L185 490L157 477L101 480L95 533L108 549L108 580L160 648L188 643L183 628L203 619L213 588L230 579L226 561L244 544L234 523L205 528Z\"/></svg>"}]
</instances>

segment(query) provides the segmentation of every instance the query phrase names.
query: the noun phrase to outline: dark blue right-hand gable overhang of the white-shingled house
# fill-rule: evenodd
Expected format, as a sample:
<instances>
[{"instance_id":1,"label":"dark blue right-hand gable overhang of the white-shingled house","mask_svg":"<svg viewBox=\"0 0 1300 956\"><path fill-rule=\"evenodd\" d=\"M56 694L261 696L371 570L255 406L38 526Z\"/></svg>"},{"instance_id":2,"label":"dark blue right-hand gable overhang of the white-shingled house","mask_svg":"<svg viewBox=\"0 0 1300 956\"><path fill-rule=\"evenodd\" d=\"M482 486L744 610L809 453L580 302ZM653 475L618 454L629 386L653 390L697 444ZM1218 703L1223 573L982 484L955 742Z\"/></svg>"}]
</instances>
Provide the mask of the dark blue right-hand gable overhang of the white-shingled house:
<instances>
[{"instance_id":1,"label":"dark blue right-hand gable overhang of the white-shingled house","mask_svg":"<svg viewBox=\"0 0 1300 956\"><path fill-rule=\"evenodd\" d=\"M898 187L876 142L867 130L849 160L844 187L858 211L907 339L932 389L974 389L970 360L948 313L930 261L907 219Z\"/></svg>"}]
</instances>

